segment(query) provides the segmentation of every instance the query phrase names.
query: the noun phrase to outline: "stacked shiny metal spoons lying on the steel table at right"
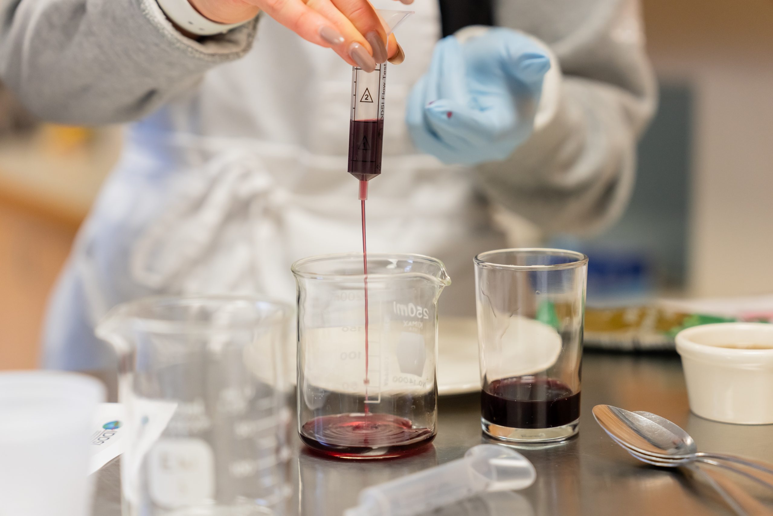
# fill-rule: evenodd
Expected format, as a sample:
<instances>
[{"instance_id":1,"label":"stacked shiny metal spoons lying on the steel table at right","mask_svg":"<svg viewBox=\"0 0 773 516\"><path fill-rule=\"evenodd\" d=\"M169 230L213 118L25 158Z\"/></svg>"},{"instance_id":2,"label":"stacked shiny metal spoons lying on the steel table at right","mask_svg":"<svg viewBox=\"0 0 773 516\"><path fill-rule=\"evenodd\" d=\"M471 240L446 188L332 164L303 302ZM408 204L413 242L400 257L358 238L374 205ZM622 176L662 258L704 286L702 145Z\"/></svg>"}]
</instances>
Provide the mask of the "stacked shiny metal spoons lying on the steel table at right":
<instances>
[{"instance_id":1,"label":"stacked shiny metal spoons lying on the steel table at right","mask_svg":"<svg viewBox=\"0 0 773 516\"><path fill-rule=\"evenodd\" d=\"M611 405L596 405L593 415L601 428L618 443L625 443L626 447L641 455L650 456L652 460L682 463L700 460L715 465L718 465L716 460L724 460L773 475L773 466L766 463L726 453L699 452L690 434L659 415L650 412L629 412ZM712 459L714 461L711 461Z\"/></svg>"}]
</instances>

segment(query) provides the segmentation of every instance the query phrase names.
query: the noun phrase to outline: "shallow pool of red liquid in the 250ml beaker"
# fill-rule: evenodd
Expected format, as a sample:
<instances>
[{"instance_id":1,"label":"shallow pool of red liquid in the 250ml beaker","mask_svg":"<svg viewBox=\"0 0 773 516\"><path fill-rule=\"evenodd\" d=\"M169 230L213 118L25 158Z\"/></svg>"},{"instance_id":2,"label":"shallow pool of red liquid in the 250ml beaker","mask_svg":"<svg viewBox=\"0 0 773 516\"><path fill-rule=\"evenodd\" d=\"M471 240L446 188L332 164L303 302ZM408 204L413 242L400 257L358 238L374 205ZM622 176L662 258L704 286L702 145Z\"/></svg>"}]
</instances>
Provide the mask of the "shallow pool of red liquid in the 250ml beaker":
<instances>
[{"instance_id":1,"label":"shallow pool of red liquid in the 250ml beaker","mask_svg":"<svg viewBox=\"0 0 773 516\"><path fill-rule=\"evenodd\" d=\"M347 459L410 455L432 439L432 430L413 428L410 420L390 414L324 415L301 428L301 441L306 446Z\"/></svg>"}]
</instances>

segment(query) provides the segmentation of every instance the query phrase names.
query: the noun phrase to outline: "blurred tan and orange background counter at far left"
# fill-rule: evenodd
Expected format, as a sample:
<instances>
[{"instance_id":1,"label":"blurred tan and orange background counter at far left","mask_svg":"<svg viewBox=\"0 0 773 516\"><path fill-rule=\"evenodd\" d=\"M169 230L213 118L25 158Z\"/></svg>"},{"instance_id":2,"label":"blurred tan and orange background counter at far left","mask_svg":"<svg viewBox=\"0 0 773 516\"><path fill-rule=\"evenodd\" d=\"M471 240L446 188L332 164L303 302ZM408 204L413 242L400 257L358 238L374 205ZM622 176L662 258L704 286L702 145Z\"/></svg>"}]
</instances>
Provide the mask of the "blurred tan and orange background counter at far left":
<instances>
[{"instance_id":1,"label":"blurred tan and orange background counter at far left","mask_svg":"<svg viewBox=\"0 0 773 516\"><path fill-rule=\"evenodd\" d=\"M0 370L36 366L49 291L121 146L120 128L43 125L3 105Z\"/></svg>"}]
</instances>

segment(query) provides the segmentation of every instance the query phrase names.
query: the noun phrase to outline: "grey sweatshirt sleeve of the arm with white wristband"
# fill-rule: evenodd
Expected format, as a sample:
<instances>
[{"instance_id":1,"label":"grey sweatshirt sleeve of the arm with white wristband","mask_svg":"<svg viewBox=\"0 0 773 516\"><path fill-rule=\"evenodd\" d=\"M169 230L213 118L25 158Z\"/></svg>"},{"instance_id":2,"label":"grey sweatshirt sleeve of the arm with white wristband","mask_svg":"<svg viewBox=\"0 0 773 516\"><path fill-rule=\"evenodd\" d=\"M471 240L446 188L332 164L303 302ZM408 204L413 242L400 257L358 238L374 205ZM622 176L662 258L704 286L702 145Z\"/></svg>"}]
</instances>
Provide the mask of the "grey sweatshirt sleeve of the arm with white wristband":
<instances>
[{"instance_id":1,"label":"grey sweatshirt sleeve of the arm with white wristband","mask_svg":"<svg viewBox=\"0 0 773 516\"><path fill-rule=\"evenodd\" d=\"M140 118L247 53L255 22L200 42L155 0L0 0L0 79L41 118Z\"/></svg>"}]
</instances>

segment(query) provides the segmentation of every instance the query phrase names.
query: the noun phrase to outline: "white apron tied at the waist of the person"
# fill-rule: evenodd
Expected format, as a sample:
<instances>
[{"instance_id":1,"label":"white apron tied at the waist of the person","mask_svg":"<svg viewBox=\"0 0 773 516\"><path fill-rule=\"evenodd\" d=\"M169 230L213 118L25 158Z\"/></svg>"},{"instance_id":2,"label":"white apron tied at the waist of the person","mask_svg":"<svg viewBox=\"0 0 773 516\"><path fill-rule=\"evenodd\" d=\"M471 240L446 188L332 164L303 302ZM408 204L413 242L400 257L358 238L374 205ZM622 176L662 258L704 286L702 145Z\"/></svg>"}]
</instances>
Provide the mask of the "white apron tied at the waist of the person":
<instances>
[{"instance_id":1,"label":"white apron tied at the waist of the person","mask_svg":"<svg viewBox=\"0 0 773 516\"><path fill-rule=\"evenodd\" d=\"M395 9L390 0L373 3ZM408 58L388 67L369 251L444 261L453 285L441 296L441 316L472 316L472 258L506 241L474 171L411 145L406 99L430 63L440 17L438 2L410 9L416 15L398 32ZM46 366L104 367L111 351L93 330L120 302L226 292L293 302L293 261L361 250L358 185L346 172L352 70L268 17L257 35L243 59L211 70L129 129L52 298Z\"/></svg>"}]
</instances>

